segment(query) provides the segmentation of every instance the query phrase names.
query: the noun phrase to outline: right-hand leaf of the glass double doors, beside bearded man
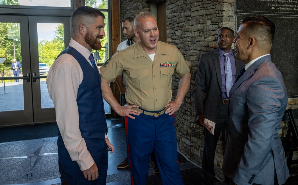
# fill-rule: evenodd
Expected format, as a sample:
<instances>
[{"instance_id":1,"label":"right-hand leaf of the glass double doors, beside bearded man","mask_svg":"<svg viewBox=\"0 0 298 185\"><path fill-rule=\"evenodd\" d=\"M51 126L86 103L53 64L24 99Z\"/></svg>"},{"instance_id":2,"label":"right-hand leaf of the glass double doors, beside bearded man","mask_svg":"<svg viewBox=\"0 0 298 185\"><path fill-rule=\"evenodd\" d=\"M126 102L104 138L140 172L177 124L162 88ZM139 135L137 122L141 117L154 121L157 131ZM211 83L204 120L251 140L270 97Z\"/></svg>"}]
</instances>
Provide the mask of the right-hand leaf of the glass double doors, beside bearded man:
<instances>
[{"instance_id":1,"label":"right-hand leaf of the glass double doors, beside bearded man","mask_svg":"<svg viewBox=\"0 0 298 185\"><path fill-rule=\"evenodd\" d=\"M29 16L28 20L34 122L55 122L55 108L49 97L46 75L72 38L70 17Z\"/></svg>"}]
</instances>

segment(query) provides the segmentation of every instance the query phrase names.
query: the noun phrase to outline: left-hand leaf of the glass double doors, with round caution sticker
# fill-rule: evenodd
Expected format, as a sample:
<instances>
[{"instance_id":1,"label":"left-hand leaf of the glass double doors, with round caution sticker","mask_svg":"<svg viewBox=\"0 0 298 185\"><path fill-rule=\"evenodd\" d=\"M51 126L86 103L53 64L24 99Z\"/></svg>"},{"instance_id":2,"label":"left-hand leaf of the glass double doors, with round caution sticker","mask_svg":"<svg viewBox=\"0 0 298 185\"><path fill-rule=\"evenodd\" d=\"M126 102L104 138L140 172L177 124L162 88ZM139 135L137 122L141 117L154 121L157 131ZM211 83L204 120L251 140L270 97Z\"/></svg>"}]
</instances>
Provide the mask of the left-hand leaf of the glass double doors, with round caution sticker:
<instances>
[{"instance_id":1,"label":"left-hand leaf of the glass double doors, with round caution sticker","mask_svg":"<svg viewBox=\"0 0 298 185\"><path fill-rule=\"evenodd\" d=\"M0 39L0 57L12 61L0 64L0 127L33 123L28 17L1 15Z\"/></svg>"}]
</instances>

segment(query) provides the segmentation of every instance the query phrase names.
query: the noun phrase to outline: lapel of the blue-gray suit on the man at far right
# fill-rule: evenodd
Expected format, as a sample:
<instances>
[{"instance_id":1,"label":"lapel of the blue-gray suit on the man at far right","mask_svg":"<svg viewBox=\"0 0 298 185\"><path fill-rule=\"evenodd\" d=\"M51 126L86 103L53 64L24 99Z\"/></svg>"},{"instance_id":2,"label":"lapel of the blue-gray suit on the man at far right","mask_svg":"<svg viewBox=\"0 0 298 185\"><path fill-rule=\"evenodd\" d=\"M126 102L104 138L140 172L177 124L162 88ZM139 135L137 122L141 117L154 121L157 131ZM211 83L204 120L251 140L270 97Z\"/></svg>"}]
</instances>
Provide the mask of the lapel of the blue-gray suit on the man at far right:
<instances>
[{"instance_id":1,"label":"lapel of the blue-gray suit on the man at far right","mask_svg":"<svg viewBox=\"0 0 298 185\"><path fill-rule=\"evenodd\" d=\"M236 81L236 83L232 86L230 90L230 94L234 93L236 88L240 86L242 82L244 82L246 79L250 78L254 72L259 69L263 64L266 62L271 61L271 55L264 56L262 58L259 58L257 61L255 61L246 72L243 73L243 75Z\"/></svg>"}]
</instances>

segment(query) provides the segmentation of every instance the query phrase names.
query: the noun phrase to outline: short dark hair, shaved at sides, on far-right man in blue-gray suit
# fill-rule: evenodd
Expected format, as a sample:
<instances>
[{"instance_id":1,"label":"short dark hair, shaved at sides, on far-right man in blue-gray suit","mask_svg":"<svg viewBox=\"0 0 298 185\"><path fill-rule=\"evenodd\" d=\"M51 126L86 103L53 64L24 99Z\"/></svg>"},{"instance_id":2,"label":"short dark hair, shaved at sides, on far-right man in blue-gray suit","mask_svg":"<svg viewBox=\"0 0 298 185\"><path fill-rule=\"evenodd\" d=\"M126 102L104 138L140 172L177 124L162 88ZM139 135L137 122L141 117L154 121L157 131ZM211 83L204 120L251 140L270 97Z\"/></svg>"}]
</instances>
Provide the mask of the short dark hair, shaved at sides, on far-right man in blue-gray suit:
<instances>
[{"instance_id":1,"label":"short dark hair, shaved at sides, on far-right man in blue-gray suit","mask_svg":"<svg viewBox=\"0 0 298 185\"><path fill-rule=\"evenodd\" d=\"M254 34L260 41L272 44L275 24L264 16L252 16L245 18L242 23L246 24L247 34Z\"/></svg>"}]
</instances>

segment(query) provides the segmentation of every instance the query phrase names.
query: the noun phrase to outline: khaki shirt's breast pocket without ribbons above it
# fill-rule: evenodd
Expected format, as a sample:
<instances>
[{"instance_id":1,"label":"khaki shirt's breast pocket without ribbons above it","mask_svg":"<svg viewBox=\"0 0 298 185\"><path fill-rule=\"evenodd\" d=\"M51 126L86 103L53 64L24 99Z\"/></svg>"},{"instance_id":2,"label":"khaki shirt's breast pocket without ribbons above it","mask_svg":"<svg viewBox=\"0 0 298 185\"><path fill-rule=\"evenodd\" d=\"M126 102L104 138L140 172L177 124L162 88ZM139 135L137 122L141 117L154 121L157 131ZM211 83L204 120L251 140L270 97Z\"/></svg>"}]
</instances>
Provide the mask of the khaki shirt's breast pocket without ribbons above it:
<instances>
[{"instance_id":1,"label":"khaki shirt's breast pocket without ribbons above it","mask_svg":"<svg viewBox=\"0 0 298 185\"><path fill-rule=\"evenodd\" d=\"M140 69L131 71L129 76L131 77L132 83L134 88L144 91L147 90L148 87L148 76L149 72L148 69Z\"/></svg>"}]
</instances>

